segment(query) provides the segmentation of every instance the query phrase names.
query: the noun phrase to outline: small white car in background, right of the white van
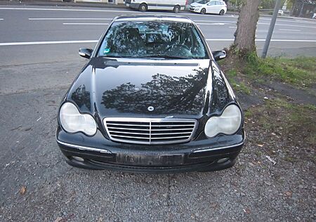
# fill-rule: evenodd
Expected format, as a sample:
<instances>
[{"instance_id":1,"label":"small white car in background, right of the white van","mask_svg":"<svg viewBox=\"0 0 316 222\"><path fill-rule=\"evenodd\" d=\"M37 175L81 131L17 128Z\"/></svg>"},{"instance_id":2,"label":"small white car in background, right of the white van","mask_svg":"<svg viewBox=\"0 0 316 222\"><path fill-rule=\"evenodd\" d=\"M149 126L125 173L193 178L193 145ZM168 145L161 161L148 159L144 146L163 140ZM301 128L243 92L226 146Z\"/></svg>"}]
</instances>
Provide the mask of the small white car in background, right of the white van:
<instances>
[{"instance_id":1,"label":"small white car in background, right of the white van","mask_svg":"<svg viewBox=\"0 0 316 222\"><path fill-rule=\"evenodd\" d=\"M227 5L225 1L220 0L200 0L190 4L190 11L201 14L211 13L225 15Z\"/></svg>"}]
</instances>

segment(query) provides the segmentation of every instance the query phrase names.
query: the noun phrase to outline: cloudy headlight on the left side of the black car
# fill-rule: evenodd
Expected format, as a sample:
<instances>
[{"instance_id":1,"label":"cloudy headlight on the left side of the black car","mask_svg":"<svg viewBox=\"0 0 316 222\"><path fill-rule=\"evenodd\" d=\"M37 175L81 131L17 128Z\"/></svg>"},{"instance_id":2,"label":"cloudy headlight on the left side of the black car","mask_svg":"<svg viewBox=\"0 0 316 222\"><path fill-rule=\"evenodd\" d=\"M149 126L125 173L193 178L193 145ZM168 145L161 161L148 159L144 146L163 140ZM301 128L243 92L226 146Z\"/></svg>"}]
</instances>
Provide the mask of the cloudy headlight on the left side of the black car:
<instances>
[{"instance_id":1,"label":"cloudy headlight on the left side of the black car","mask_svg":"<svg viewBox=\"0 0 316 222\"><path fill-rule=\"evenodd\" d=\"M59 119L62 128L69 133L79 131L93 136L96 133L96 121L91 115L81 114L72 103L65 103L59 111Z\"/></svg>"}]
</instances>

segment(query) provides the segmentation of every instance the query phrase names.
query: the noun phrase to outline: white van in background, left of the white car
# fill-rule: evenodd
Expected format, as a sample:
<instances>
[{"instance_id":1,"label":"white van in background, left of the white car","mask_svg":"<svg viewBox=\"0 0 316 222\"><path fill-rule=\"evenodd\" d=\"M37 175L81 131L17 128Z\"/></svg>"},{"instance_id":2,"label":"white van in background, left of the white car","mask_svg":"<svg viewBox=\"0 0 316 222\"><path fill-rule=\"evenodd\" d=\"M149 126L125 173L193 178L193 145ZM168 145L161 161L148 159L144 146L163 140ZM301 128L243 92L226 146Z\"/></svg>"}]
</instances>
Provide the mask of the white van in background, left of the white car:
<instances>
[{"instance_id":1,"label":"white van in background, left of the white car","mask_svg":"<svg viewBox=\"0 0 316 222\"><path fill-rule=\"evenodd\" d=\"M129 8L134 8L139 11L147 10L172 10L174 13L179 13L185 9L187 0L126 0L125 5Z\"/></svg>"}]
</instances>

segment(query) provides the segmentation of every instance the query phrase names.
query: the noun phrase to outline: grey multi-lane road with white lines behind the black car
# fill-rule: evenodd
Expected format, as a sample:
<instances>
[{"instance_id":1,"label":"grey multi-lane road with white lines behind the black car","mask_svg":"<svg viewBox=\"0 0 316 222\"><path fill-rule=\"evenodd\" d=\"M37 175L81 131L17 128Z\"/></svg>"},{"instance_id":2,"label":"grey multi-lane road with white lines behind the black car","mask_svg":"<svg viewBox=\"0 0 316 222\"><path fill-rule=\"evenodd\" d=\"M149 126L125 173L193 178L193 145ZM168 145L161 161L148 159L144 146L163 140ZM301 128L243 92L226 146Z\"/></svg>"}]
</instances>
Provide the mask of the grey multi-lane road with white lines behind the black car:
<instances>
[{"instance_id":1,"label":"grey multi-lane road with white lines behind the black car","mask_svg":"<svg viewBox=\"0 0 316 222\"><path fill-rule=\"evenodd\" d=\"M1 6L0 65L76 60L78 48L93 48L112 18L135 13L139 12L124 8ZM156 11L146 14L160 13ZM232 44L236 15L199 15L190 12L181 15L197 22L212 50ZM269 17L258 21L256 39L259 53L269 25ZM315 33L314 20L279 18L268 53L316 55ZM56 44L58 41L59 44Z\"/></svg>"}]
</instances>

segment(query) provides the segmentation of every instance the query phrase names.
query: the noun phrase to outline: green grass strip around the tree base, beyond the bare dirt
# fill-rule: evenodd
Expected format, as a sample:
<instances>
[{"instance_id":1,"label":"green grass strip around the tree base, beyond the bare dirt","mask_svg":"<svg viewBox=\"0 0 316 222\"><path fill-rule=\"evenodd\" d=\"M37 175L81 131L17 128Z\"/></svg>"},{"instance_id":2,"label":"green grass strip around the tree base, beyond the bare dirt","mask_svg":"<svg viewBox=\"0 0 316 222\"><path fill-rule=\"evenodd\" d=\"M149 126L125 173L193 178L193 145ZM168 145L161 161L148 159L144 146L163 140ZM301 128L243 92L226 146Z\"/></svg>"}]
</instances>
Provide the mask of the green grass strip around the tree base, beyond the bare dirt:
<instances>
[{"instance_id":1,"label":"green grass strip around the tree base, beyond the bare dirt","mask_svg":"<svg viewBox=\"0 0 316 222\"><path fill-rule=\"evenodd\" d=\"M229 81L232 82L233 88L238 91L250 92L246 84L237 83L240 74L258 84L263 84L267 80L276 80L299 88L315 86L316 57L268 57L263 59L259 58L256 53L249 53L240 58L233 50L228 53L230 53L228 60L220 61L219 64L223 67ZM237 85L239 85L239 89Z\"/></svg>"}]
</instances>

